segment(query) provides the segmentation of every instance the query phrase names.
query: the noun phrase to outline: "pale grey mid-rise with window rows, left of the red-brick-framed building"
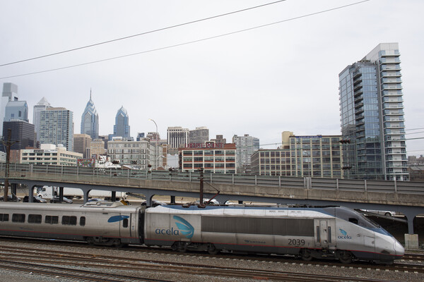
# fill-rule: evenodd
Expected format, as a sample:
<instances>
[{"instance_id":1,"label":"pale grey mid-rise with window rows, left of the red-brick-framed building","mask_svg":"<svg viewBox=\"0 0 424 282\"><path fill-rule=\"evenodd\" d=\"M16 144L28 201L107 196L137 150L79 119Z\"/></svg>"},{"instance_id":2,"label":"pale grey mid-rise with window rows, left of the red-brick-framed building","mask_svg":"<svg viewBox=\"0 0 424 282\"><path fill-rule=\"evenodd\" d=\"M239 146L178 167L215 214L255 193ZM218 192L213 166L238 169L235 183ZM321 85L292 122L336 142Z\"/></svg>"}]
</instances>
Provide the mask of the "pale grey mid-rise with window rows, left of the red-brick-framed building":
<instances>
[{"instance_id":1,"label":"pale grey mid-rise with window rows, left of the red-brick-framed building","mask_svg":"<svg viewBox=\"0 0 424 282\"><path fill-rule=\"evenodd\" d=\"M127 141L114 137L107 142L107 155L121 166L146 169L151 163L151 144L147 138L140 141Z\"/></svg>"}]
</instances>

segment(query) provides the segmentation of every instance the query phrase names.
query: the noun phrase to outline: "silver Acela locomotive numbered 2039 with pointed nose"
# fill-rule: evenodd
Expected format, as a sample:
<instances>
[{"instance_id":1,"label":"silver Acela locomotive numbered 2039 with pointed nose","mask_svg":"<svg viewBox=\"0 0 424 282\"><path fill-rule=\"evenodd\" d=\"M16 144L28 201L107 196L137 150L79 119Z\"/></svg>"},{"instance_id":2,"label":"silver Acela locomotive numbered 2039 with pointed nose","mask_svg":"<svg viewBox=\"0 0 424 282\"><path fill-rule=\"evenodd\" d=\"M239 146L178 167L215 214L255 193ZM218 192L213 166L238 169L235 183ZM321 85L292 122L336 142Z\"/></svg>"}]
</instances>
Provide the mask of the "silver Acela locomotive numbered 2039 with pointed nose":
<instances>
[{"instance_id":1,"label":"silver Acela locomotive numbered 2039 with pointed nose","mask_svg":"<svg viewBox=\"0 0 424 282\"><path fill-rule=\"evenodd\" d=\"M390 263L404 247L362 214L343 207L179 207L146 209L143 242L175 250L290 254Z\"/></svg>"}]
</instances>

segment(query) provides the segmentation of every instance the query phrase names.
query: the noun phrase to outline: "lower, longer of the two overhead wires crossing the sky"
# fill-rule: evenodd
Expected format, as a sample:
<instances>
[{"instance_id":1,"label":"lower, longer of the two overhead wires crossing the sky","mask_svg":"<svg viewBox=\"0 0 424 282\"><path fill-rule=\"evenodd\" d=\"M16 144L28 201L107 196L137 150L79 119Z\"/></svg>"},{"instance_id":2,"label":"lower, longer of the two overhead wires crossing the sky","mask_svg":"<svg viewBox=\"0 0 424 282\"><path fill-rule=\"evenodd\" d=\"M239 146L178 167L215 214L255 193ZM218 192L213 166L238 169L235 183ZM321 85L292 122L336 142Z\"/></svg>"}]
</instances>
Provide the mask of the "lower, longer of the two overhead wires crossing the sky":
<instances>
[{"instance_id":1,"label":"lower, longer of the two overhead wires crossing the sky","mask_svg":"<svg viewBox=\"0 0 424 282\"><path fill-rule=\"evenodd\" d=\"M90 61L88 63L79 63L79 64L76 64L76 65L73 65L73 66L64 66L64 67L61 67L61 68L52 68L52 69L49 69L49 70L46 70L46 71L37 71L37 72L33 72L33 73L24 73L24 74L20 74L20 75L11 75L11 76L6 76L6 77L0 78L0 79L17 78L19 76L35 75L35 74L38 74L38 73L47 73L47 72L51 72L51 71L59 71L59 70L64 70L66 68L75 68L75 67L78 67L78 66L86 66L86 65L93 64L93 63L100 63L100 62L104 62L104 61L111 61L111 60L114 60L114 59L122 59L122 58L129 57L129 56L135 56L135 55L139 55L139 54L151 53L153 51L160 51L160 50L164 50L164 49L170 49L170 48L180 47L180 46L184 46L184 45L187 45L187 44L193 44L193 43L196 43L196 42L202 42L202 41L206 41L206 40L210 40L210 39L216 39L216 38L225 37L225 36L228 36L228 35L235 35L235 34L240 33L240 32L246 32L246 31L249 31L249 30L256 30L256 29L259 29L261 27L268 27L270 25L276 25L278 23L285 23L285 22L288 22L290 20L298 20L300 18L306 18L306 17L309 17L309 16L315 16L315 15L319 15L321 13L326 13L326 12L329 12L329 11L335 11L335 10L339 10L341 8L346 8L346 7L353 6L353 5L362 4L362 3L367 2L367 1L370 1L370 0L358 1L358 2L355 2L353 4L348 4L348 5L344 5L344 6L338 6L336 8L330 8L330 9L327 9L327 10L324 10L324 11L315 12L315 13L309 13L309 14L306 14L306 15L303 15L303 16L298 16L298 17L295 17L295 18L289 18L287 20L280 20L280 21L274 22L274 23L267 23L265 25L258 25L256 27L249 27L249 28L246 28L244 30L237 30L235 32L228 32L228 33L225 33L225 34L222 34L222 35L216 35L216 36L213 36L213 37L206 37L206 38L203 38L203 39L197 39L197 40L193 40L193 41L189 41L189 42L184 42L184 43L179 43L179 44L175 44L175 45L170 45L170 46L167 46L167 47L160 47L160 48L151 49L151 50L147 50L147 51L140 51L140 52L136 52L136 53L133 53L133 54L126 54L126 55L116 56L116 57L112 57L112 58L108 58L108 59L102 59L102 60L98 60L98 61Z\"/></svg>"}]
</instances>

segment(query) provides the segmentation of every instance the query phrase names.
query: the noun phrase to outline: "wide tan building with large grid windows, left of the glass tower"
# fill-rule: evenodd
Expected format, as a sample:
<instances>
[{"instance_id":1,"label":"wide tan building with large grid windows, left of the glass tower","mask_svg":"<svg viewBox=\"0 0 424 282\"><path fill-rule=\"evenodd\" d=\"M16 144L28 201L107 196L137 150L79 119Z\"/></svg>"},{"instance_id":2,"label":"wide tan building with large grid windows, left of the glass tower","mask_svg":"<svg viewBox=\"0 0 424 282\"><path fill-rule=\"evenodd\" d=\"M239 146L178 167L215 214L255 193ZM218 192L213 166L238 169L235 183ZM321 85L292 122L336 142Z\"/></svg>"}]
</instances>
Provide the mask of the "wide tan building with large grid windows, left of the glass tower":
<instances>
[{"instance_id":1,"label":"wide tan building with large grid windows, left of the glass tower","mask_svg":"<svg viewBox=\"0 0 424 282\"><path fill-rule=\"evenodd\" d=\"M285 131L285 133L290 133ZM343 178L341 135L283 134L279 149L259 149L252 155L252 174Z\"/></svg>"}]
</instances>

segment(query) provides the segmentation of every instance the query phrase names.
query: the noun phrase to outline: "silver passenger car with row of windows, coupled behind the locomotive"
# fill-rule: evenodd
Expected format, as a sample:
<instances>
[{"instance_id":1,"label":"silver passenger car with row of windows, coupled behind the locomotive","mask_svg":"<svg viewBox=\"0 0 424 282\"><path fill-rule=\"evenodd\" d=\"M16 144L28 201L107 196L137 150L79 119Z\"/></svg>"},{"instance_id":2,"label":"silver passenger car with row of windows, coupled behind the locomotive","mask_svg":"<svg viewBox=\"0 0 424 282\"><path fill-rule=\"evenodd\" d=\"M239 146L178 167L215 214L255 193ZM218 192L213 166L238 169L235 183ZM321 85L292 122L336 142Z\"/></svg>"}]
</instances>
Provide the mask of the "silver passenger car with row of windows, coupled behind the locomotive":
<instances>
[{"instance_id":1,"label":"silver passenger car with row of windows, coupled behind the locomotive","mask_svg":"<svg viewBox=\"0 0 424 282\"><path fill-rule=\"evenodd\" d=\"M99 245L139 244L140 212L119 202L84 206L2 203L0 235L82 240Z\"/></svg>"}]
</instances>

